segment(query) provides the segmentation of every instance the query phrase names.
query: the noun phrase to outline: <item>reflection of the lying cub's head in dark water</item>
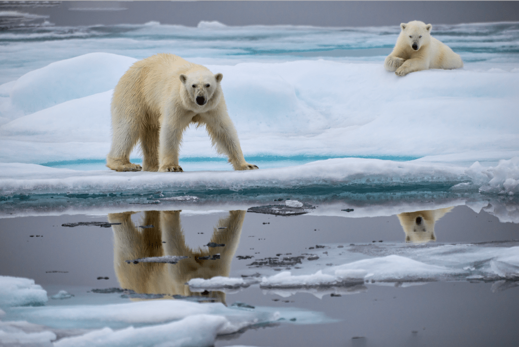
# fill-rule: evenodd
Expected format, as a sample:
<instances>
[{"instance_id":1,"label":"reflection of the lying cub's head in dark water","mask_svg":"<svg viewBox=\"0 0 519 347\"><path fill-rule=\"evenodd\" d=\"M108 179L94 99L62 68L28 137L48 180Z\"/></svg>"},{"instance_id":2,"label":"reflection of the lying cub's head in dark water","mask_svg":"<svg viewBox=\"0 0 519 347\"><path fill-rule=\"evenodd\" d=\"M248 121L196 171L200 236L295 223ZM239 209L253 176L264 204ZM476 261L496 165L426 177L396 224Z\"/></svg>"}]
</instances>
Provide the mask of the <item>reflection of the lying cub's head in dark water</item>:
<instances>
[{"instance_id":1,"label":"reflection of the lying cub's head in dark water","mask_svg":"<svg viewBox=\"0 0 519 347\"><path fill-rule=\"evenodd\" d=\"M400 224L404 228L405 242L425 243L436 241L434 223L453 208L446 207L445 209L438 210L400 213L398 219L400 219Z\"/></svg>"}]
</instances>

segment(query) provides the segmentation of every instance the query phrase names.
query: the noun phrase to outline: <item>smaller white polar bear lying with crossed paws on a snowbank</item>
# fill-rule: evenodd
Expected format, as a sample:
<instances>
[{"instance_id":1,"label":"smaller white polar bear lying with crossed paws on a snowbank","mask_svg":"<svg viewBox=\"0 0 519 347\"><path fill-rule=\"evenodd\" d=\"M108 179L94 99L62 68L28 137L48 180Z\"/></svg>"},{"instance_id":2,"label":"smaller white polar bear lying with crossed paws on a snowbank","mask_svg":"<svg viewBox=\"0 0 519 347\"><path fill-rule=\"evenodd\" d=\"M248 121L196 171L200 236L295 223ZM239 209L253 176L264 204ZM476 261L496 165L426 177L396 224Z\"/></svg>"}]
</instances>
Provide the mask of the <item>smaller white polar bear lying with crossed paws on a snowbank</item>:
<instances>
[{"instance_id":1,"label":"smaller white polar bear lying with crossed paws on a snowbank","mask_svg":"<svg viewBox=\"0 0 519 347\"><path fill-rule=\"evenodd\" d=\"M431 36L431 24L412 21L400 24L402 31L393 51L384 62L387 71L405 76L428 68L453 69L463 67L459 54Z\"/></svg>"}]
</instances>

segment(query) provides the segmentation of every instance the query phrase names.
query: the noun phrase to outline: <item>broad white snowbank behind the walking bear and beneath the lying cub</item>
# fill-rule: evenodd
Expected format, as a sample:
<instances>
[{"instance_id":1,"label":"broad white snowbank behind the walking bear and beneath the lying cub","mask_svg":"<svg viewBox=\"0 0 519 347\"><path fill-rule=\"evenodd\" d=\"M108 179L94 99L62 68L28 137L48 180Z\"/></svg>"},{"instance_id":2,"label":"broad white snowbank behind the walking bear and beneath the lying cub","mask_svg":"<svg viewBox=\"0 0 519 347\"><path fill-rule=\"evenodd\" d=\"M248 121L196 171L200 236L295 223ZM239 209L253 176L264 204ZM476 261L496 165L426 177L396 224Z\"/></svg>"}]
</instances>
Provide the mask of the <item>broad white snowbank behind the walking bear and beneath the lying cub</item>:
<instances>
[{"instance_id":1,"label":"broad white snowbank behind the walking bear and beneath the lying cub","mask_svg":"<svg viewBox=\"0 0 519 347\"><path fill-rule=\"evenodd\" d=\"M109 64L98 64L100 60ZM0 127L3 147L15 147L0 160L104 159L111 142L111 89L133 61L90 53L21 76L4 107L18 107L27 115ZM229 115L246 157L423 157L469 150L485 158L496 151L508 157L490 158L497 161L519 154L515 73L430 70L403 79L380 64L325 60L208 67L224 74ZM48 81L70 80L71 70L74 85L47 86ZM107 70L111 74L97 86ZM323 88L329 85L334 88ZM5 118L14 114L11 110ZM20 150L7 141L21 142ZM46 145L39 148L37 143ZM88 154L71 157L66 143L87 147ZM34 151L26 157L23 147L31 144ZM202 129L186 132L182 154L217 157Z\"/></svg>"}]
</instances>

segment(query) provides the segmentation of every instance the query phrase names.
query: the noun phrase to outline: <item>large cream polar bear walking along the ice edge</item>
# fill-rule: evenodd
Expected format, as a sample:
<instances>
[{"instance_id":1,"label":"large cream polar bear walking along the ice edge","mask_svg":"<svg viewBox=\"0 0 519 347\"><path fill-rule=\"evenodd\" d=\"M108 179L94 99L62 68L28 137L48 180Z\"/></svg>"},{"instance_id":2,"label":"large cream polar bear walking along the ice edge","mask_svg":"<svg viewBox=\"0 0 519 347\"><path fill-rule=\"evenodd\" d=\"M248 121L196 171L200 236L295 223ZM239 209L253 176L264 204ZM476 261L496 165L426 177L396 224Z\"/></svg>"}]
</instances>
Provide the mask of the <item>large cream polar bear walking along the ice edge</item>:
<instances>
[{"instance_id":1,"label":"large cream polar bear walking along the ice edge","mask_svg":"<svg viewBox=\"0 0 519 347\"><path fill-rule=\"evenodd\" d=\"M213 146L235 170L258 167L243 158L238 134L227 114L222 74L161 53L134 63L112 98L112 147L106 166L115 171L182 172L179 149L190 123L204 125ZM143 165L130 162L140 141Z\"/></svg>"}]
</instances>

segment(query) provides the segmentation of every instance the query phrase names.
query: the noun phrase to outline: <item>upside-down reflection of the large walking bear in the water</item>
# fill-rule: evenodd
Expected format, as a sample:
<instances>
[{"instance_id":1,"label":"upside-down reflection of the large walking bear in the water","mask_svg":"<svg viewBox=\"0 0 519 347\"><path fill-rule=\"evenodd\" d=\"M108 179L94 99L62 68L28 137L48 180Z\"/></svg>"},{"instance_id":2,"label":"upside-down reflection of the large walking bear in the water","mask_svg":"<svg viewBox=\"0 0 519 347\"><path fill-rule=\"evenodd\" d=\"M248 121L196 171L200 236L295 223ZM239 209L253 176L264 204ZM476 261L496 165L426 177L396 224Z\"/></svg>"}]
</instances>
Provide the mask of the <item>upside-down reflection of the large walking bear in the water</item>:
<instances>
[{"instance_id":1,"label":"upside-down reflection of the large walking bear in the water","mask_svg":"<svg viewBox=\"0 0 519 347\"><path fill-rule=\"evenodd\" d=\"M240 241L245 211L229 211L227 218L218 220L211 242L225 244L220 247L190 249L186 246L180 224L180 211L146 211L138 228L131 221L132 212L108 214L114 231L114 267L120 286L139 294L203 295L208 299L225 302L221 292L192 293L185 285L190 279L229 276L230 263ZM217 229L225 228L225 229ZM165 243L164 243L165 242ZM220 254L220 259L200 259ZM187 256L176 264L140 262L128 264L126 260ZM205 295L207 294L207 295Z\"/></svg>"}]
</instances>

